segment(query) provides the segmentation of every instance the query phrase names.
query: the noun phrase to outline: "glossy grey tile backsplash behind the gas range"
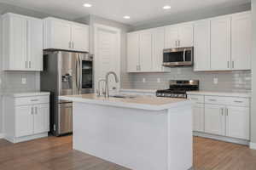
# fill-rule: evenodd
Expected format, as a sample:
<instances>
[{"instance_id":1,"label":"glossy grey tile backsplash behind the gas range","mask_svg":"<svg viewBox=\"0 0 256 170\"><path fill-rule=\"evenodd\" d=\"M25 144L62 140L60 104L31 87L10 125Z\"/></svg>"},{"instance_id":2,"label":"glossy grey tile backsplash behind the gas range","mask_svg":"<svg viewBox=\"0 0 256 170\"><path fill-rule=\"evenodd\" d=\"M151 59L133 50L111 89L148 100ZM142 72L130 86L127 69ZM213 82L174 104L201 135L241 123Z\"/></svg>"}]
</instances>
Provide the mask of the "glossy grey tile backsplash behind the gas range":
<instances>
[{"instance_id":1,"label":"glossy grey tile backsplash behind the gas range","mask_svg":"<svg viewBox=\"0 0 256 170\"><path fill-rule=\"evenodd\" d=\"M200 80L200 89L206 91L249 92L251 90L251 71L195 72L191 67L172 68L166 73L130 73L122 79L122 88L165 89L172 79Z\"/></svg>"}]
</instances>

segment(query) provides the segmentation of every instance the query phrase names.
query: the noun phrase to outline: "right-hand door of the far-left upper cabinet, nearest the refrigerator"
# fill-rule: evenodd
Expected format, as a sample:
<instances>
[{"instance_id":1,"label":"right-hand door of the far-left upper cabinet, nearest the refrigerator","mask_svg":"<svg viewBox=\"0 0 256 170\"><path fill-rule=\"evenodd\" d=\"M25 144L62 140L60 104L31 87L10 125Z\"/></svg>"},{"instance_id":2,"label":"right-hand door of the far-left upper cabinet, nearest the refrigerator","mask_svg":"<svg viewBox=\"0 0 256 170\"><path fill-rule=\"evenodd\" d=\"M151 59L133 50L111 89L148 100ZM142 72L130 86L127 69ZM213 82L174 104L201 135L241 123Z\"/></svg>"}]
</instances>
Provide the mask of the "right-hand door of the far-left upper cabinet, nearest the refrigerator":
<instances>
[{"instance_id":1,"label":"right-hand door of the far-left upper cabinet, nearest the refrigerator","mask_svg":"<svg viewBox=\"0 0 256 170\"><path fill-rule=\"evenodd\" d=\"M43 20L27 20L27 62L31 71L43 71Z\"/></svg>"}]
</instances>

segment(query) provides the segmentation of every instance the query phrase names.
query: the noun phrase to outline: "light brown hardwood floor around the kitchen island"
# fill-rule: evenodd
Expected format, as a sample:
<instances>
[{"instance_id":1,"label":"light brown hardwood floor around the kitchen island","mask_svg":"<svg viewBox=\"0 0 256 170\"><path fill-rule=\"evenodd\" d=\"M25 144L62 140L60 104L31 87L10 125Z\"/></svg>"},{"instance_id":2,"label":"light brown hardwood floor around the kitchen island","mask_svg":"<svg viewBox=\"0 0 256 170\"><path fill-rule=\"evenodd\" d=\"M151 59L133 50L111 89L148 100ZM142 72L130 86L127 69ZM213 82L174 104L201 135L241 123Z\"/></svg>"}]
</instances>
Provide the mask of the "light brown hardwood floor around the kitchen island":
<instances>
[{"instance_id":1,"label":"light brown hardwood floor around the kitchen island","mask_svg":"<svg viewBox=\"0 0 256 170\"><path fill-rule=\"evenodd\" d=\"M195 170L256 170L256 150L194 138ZM0 139L1 170L128 170L72 150L72 137L49 137L20 144ZM156 169L160 170L160 169Z\"/></svg>"}]
</instances>

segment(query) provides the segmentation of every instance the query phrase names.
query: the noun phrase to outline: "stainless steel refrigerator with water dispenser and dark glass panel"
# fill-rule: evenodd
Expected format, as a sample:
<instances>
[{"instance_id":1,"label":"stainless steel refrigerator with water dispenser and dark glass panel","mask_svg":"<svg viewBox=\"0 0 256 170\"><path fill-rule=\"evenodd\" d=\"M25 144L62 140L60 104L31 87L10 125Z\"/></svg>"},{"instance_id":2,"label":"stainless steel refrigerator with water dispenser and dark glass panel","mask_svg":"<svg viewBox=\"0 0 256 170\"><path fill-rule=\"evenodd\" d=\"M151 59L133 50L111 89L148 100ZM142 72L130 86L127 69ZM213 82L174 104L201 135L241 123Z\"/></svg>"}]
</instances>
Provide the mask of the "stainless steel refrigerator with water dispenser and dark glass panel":
<instances>
[{"instance_id":1,"label":"stainless steel refrigerator with water dispenser and dark glass panel","mask_svg":"<svg viewBox=\"0 0 256 170\"><path fill-rule=\"evenodd\" d=\"M60 95L93 93L93 59L88 53L44 51L41 90L50 95L50 131L55 136L73 132L72 102Z\"/></svg>"}]
</instances>

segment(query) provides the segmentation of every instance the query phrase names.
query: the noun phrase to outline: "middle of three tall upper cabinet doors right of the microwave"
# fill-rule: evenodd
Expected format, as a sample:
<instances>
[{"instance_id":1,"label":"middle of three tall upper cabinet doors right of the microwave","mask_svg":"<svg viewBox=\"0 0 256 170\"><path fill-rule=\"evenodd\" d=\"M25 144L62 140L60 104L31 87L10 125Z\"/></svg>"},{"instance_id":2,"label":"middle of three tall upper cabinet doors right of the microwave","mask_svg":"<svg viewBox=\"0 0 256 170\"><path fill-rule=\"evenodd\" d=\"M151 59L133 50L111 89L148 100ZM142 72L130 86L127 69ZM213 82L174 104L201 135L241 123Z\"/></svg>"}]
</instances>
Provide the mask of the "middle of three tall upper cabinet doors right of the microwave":
<instances>
[{"instance_id":1,"label":"middle of three tall upper cabinet doors right of the microwave","mask_svg":"<svg viewBox=\"0 0 256 170\"><path fill-rule=\"evenodd\" d=\"M230 17L211 20L211 69L230 70Z\"/></svg>"}]
</instances>

